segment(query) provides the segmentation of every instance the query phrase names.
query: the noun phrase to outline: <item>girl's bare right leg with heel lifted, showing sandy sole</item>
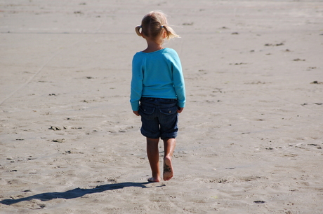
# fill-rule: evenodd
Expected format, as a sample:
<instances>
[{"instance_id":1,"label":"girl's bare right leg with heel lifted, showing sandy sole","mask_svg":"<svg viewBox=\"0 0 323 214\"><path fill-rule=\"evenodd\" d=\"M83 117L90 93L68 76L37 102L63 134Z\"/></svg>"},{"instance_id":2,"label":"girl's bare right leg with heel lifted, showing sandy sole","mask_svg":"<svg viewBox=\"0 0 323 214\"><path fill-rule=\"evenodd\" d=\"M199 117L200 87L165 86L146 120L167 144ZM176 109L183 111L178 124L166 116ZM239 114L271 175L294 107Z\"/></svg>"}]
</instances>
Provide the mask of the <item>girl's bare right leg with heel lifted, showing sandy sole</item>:
<instances>
[{"instance_id":1,"label":"girl's bare right leg with heel lifted, showing sandy sole","mask_svg":"<svg viewBox=\"0 0 323 214\"><path fill-rule=\"evenodd\" d=\"M171 178L173 178L173 166L171 164L171 158L173 157L175 146L175 138L164 139L164 180L171 180Z\"/></svg>"}]
</instances>

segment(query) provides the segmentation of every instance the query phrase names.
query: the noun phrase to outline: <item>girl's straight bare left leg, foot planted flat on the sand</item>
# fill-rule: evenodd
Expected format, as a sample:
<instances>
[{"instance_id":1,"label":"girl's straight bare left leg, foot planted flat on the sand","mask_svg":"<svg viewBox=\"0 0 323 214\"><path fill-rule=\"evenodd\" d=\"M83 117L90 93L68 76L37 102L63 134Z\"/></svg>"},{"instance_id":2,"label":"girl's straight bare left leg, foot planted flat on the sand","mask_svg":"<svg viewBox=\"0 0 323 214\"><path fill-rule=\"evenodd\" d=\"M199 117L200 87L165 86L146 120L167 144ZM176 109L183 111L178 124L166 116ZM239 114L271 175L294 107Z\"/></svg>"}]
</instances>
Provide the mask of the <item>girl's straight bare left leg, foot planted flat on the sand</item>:
<instances>
[{"instance_id":1,"label":"girl's straight bare left leg, foot planted flat on the sand","mask_svg":"<svg viewBox=\"0 0 323 214\"><path fill-rule=\"evenodd\" d=\"M149 178L150 182L160 182L160 171L159 171L159 138L147 138L147 156L152 169L152 178Z\"/></svg>"}]
</instances>

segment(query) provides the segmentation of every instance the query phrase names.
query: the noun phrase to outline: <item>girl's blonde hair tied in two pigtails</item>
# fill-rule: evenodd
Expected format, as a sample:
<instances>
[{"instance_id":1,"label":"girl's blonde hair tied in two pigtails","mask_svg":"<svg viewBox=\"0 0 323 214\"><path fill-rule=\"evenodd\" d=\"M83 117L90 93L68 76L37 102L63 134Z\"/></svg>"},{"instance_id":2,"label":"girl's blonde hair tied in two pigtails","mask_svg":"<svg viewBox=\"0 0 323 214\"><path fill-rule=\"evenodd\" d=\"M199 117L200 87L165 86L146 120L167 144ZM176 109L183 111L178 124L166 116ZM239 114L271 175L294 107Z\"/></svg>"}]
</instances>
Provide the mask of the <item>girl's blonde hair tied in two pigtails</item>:
<instances>
[{"instance_id":1,"label":"girl's blonde hair tied in two pigtails","mask_svg":"<svg viewBox=\"0 0 323 214\"><path fill-rule=\"evenodd\" d=\"M162 11L154 10L143 17L141 25L136 26L138 36L146 36L154 41L157 41L160 36L166 31L166 39L180 37L168 25L166 15ZM141 29L141 32L140 32Z\"/></svg>"}]
</instances>

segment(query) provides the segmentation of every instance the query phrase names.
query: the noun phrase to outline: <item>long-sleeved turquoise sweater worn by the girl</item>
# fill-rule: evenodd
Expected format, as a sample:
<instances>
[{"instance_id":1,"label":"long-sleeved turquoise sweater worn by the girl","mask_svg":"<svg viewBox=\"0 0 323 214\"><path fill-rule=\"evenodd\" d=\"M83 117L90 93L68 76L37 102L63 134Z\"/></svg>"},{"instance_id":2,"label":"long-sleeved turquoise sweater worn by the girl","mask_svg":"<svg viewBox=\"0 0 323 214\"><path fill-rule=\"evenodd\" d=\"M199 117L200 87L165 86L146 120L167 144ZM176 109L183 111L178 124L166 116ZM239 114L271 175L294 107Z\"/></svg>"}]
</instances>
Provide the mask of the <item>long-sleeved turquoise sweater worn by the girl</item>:
<instances>
[{"instance_id":1,"label":"long-sleeved turquoise sweater worn by the girl","mask_svg":"<svg viewBox=\"0 0 323 214\"><path fill-rule=\"evenodd\" d=\"M177 99L185 107L185 83L180 58L175 50L137 52L133 56L131 96L132 110L139 109L141 97Z\"/></svg>"}]
</instances>

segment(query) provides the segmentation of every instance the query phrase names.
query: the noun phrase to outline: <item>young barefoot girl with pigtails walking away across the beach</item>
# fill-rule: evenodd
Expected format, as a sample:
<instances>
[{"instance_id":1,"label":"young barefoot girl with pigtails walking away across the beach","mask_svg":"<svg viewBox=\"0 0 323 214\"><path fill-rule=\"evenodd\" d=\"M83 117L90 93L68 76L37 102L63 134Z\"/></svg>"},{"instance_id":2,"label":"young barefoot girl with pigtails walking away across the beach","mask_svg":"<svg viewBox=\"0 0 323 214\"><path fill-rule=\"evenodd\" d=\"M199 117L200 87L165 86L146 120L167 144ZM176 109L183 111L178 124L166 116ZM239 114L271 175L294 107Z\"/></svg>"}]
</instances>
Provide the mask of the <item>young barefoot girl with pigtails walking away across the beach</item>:
<instances>
[{"instance_id":1,"label":"young barefoot girl with pigtails walking away across the beach","mask_svg":"<svg viewBox=\"0 0 323 214\"><path fill-rule=\"evenodd\" d=\"M178 113L185 107L185 84L177 52L163 48L165 39L179 37L167 24L166 15L152 11L136 27L147 48L137 52L132 62L131 108L141 116L141 134L147 140L147 156L152 169L149 182L160 182L159 138L164 141L163 179L173 177L171 158L176 145Z\"/></svg>"}]
</instances>

